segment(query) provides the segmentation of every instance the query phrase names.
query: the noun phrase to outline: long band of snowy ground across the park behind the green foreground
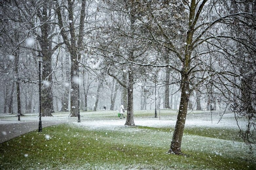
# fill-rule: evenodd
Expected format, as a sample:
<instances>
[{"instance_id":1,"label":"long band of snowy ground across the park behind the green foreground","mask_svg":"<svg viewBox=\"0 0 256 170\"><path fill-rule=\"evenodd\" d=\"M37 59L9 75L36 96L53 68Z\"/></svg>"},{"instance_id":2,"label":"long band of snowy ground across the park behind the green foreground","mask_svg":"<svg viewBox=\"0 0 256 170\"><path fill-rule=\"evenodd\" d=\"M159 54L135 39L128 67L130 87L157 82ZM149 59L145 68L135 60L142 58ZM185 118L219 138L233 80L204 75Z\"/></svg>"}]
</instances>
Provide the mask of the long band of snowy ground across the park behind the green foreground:
<instances>
[{"instance_id":1,"label":"long band of snowy ground across the park behind the green foreground","mask_svg":"<svg viewBox=\"0 0 256 170\"><path fill-rule=\"evenodd\" d=\"M137 111L135 111L136 113ZM139 111L138 111L139 112ZM139 112L141 115L141 112ZM126 116L126 115L125 115ZM137 126L148 127L174 127L176 124L177 115L154 115L148 117L134 117L134 123ZM219 121L219 113L200 113L187 114L186 127L220 127L220 128L237 128L237 123L233 113L225 113ZM8 121L7 121L8 120ZM32 122L38 121L38 114L31 113L21 117L22 121ZM53 113L53 116L42 117L42 121L62 121L67 123L75 123L78 126L83 126L90 129L119 129L124 128L126 119L119 119L114 111L97 111L97 112L81 112L81 123L77 123L77 117L69 117L69 112ZM15 115L0 114L0 124L18 123ZM242 121L242 124L245 122Z\"/></svg>"}]
</instances>

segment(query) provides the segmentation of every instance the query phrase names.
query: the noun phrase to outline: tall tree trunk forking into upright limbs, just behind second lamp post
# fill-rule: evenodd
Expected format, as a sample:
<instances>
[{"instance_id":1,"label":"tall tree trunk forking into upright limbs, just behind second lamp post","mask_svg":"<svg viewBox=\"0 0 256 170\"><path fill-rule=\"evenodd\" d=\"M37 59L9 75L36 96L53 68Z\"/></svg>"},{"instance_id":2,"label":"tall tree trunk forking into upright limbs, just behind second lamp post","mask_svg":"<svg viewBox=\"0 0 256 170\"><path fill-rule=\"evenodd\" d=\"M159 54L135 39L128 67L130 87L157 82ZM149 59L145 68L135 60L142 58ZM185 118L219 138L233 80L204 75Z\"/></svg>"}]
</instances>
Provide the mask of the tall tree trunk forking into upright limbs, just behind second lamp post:
<instances>
[{"instance_id":1,"label":"tall tree trunk forking into upright limbs, just behind second lamp post","mask_svg":"<svg viewBox=\"0 0 256 170\"><path fill-rule=\"evenodd\" d=\"M80 3L75 4L76 1L72 1L72 0L68 0L67 2L68 2L67 10L68 10L69 25L64 25L64 22L63 22L63 16L61 12L61 9L63 8L63 6L57 2L55 10L58 16L58 25L60 28L60 34L70 53L70 58L71 58L70 116L75 117L77 116L78 109L79 109L78 107L79 94L78 94L78 83L76 82L76 79L77 79L76 71L78 70L79 61L81 59L82 42L84 37L86 1L82 1L81 4ZM74 23L75 22L74 7L81 9L78 33L76 33L76 28ZM69 29L66 30L66 27L69 27ZM69 33L70 39L69 39L68 33Z\"/></svg>"}]
</instances>

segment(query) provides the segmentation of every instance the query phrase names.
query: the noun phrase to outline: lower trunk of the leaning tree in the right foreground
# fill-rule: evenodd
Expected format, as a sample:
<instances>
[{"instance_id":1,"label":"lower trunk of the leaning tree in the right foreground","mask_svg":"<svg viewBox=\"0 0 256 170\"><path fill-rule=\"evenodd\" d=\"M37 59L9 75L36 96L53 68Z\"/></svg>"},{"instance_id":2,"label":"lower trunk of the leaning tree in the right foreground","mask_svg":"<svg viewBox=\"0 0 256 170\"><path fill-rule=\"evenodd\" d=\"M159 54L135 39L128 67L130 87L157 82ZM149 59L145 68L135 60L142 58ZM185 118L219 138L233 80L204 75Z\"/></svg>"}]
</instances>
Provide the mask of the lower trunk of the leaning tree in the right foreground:
<instances>
[{"instance_id":1,"label":"lower trunk of the leaning tree in the right foreground","mask_svg":"<svg viewBox=\"0 0 256 170\"><path fill-rule=\"evenodd\" d=\"M189 92L189 83L188 83L188 76L185 75L182 77L180 107L179 107L179 112L177 116L176 125L174 128L173 136L172 136L171 146L168 153L175 153L175 154L181 153L181 141L182 141L183 131L184 131L185 122L186 122L187 106L188 106L188 100L189 100L189 93L187 92Z\"/></svg>"}]
</instances>

